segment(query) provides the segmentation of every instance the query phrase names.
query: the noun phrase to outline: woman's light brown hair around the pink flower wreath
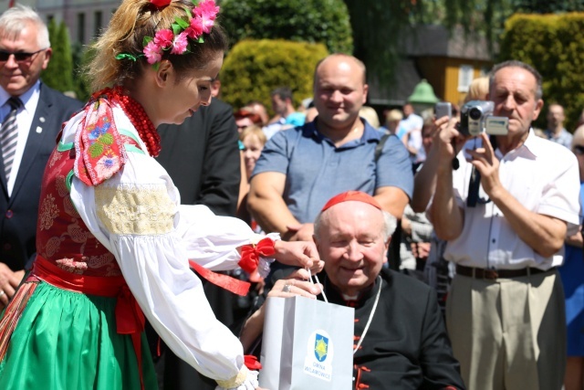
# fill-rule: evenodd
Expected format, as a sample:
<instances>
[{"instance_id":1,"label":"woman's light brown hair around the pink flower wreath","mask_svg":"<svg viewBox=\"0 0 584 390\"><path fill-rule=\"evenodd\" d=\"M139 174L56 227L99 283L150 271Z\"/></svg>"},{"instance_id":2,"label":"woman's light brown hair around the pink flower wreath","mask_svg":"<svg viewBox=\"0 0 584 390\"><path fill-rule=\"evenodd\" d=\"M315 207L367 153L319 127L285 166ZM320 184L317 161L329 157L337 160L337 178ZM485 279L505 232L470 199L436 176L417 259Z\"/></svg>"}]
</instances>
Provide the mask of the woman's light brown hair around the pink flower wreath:
<instances>
[{"instance_id":1,"label":"woman's light brown hair around the pink flower wreath","mask_svg":"<svg viewBox=\"0 0 584 390\"><path fill-rule=\"evenodd\" d=\"M170 5L157 8L149 0L123 0L111 17L108 28L91 47L95 57L86 69L91 88L101 90L141 76L144 67L149 66L144 57L133 61L116 59L116 56L122 53L141 56L144 37L154 37L163 28L172 29L175 18L185 16L185 7L192 9L193 3L190 0L172 0ZM188 70L204 69L216 52L226 50L227 39L217 24L203 38L203 44L190 42L190 53L173 55L165 51L162 60L168 59L180 77Z\"/></svg>"}]
</instances>

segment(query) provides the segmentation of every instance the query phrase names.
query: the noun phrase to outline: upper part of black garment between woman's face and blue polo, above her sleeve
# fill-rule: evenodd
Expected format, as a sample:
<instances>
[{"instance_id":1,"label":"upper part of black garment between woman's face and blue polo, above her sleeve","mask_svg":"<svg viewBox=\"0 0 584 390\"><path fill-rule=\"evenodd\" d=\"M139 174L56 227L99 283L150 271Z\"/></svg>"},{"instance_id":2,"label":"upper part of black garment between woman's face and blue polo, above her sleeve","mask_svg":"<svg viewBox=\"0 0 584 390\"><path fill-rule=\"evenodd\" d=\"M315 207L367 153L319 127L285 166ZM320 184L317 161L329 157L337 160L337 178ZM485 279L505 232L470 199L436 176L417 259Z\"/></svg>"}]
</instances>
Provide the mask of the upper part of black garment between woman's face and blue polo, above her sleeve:
<instances>
[{"instance_id":1,"label":"upper part of black garment between woman's face and blue polo, above her sleeve","mask_svg":"<svg viewBox=\"0 0 584 390\"><path fill-rule=\"evenodd\" d=\"M162 124L158 132L162 151L157 160L179 189L181 203L235 216L241 171L232 107L214 99L183 124Z\"/></svg>"}]
</instances>

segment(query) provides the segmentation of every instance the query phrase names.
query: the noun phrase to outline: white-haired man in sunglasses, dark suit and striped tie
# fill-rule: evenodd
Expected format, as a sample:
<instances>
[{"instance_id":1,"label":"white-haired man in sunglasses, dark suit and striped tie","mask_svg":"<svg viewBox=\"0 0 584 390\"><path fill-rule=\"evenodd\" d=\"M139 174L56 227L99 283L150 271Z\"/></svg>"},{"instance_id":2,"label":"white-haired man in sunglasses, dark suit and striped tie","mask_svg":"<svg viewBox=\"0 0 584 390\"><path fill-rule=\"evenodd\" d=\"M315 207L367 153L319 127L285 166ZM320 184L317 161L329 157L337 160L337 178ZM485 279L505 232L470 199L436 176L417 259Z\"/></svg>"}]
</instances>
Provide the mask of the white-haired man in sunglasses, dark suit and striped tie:
<instances>
[{"instance_id":1,"label":"white-haired man in sunglasses, dark suit and striped tie","mask_svg":"<svg viewBox=\"0 0 584 390\"><path fill-rule=\"evenodd\" d=\"M35 11L16 5L0 16L0 309L35 253L40 183L61 123L82 106L40 82L50 57Z\"/></svg>"}]
</instances>

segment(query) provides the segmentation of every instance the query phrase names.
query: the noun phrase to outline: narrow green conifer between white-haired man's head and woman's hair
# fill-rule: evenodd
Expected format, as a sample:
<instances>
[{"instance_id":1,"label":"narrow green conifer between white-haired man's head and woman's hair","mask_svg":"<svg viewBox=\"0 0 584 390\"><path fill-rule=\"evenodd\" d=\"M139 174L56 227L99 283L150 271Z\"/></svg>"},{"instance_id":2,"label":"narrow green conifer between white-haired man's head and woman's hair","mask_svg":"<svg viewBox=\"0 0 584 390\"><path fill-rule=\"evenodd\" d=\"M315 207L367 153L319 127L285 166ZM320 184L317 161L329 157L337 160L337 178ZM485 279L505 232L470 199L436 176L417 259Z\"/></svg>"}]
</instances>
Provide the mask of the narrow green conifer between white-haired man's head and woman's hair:
<instances>
[{"instance_id":1,"label":"narrow green conifer between white-haired man's head and woman's hair","mask_svg":"<svg viewBox=\"0 0 584 390\"><path fill-rule=\"evenodd\" d=\"M47 69L41 74L41 79L55 90L73 90L73 58L68 27L64 22L57 26L54 19L51 19L47 27L53 54Z\"/></svg>"}]
</instances>

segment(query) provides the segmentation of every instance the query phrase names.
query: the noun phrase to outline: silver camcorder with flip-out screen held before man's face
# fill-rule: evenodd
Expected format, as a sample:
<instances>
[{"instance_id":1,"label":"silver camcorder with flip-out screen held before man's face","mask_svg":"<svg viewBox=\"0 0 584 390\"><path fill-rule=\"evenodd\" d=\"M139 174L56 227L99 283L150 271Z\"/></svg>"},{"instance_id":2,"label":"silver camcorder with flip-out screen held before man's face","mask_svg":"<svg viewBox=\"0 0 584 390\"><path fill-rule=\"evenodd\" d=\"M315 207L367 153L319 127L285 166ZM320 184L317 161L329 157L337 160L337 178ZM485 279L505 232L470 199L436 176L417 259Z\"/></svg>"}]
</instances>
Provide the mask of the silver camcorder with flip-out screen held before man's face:
<instances>
[{"instance_id":1,"label":"silver camcorder with flip-out screen held before man's face","mask_svg":"<svg viewBox=\"0 0 584 390\"><path fill-rule=\"evenodd\" d=\"M489 135L506 135L509 132L509 119L493 116L495 103L485 100L471 100L464 103L460 111L458 132L476 137L482 132Z\"/></svg>"}]
</instances>

